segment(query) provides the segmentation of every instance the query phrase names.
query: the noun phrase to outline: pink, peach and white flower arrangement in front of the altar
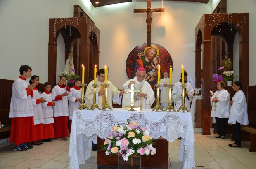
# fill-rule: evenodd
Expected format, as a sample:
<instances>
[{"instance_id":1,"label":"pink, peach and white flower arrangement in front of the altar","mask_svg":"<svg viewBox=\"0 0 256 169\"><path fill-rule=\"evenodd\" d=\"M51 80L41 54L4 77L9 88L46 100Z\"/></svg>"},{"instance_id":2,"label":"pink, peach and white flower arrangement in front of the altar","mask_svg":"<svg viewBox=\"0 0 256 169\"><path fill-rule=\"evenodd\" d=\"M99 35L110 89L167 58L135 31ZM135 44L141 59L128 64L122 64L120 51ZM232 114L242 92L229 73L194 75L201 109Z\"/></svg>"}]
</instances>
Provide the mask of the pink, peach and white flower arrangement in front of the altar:
<instances>
[{"instance_id":1,"label":"pink, peach and white flower arrangement in front of the altar","mask_svg":"<svg viewBox=\"0 0 256 169\"><path fill-rule=\"evenodd\" d=\"M137 122L129 123L126 126L116 125L113 131L105 139L104 145L99 146L100 151L105 150L106 155L121 155L124 161L136 155L156 154L153 147L153 138L149 136L146 127L140 127Z\"/></svg>"}]
</instances>

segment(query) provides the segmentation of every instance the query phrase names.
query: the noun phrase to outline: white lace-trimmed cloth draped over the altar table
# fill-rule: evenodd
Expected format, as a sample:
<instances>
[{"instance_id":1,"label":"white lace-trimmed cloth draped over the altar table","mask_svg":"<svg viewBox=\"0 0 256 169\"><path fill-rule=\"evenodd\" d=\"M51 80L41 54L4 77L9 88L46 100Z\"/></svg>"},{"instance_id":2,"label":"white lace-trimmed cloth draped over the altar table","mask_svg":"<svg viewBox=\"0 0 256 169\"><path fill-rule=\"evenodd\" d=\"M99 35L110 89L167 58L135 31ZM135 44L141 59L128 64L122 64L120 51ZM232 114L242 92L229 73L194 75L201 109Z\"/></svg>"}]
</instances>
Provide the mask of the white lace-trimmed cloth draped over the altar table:
<instances>
[{"instance_id":1,"label":"white lace-trimmed cloth draped over the altar table","mask_svg":"<svg viewBox=\"0 0 256 169\"><path fill-rule=\"evenodd\" d=\"M85 164L85 160L90 158L94 134L105 139L114 125L126 125L127 119L129 122L137 121L140 126L147 127L153 138L162 136L173 142L182 137L179 160L183 160L183 169L196 168L194 128L190 112L154 112L152 109L133 112L113 108L113 111L74 111L69 144L69 169L79 169L79 164Z\"/></svg>"}]
</instances>

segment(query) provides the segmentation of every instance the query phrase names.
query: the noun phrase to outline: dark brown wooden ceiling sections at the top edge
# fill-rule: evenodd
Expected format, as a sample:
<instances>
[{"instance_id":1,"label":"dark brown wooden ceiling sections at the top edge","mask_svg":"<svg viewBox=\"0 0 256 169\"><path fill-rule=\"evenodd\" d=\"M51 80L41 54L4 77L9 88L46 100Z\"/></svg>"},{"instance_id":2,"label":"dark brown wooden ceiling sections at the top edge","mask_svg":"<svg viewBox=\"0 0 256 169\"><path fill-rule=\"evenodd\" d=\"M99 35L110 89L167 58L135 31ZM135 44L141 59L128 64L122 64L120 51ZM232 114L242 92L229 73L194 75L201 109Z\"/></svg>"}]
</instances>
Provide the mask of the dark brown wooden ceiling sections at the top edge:
<instances>
[{"instance_id":1,"label":"dark brown wooden ceiling sections at the top edge","mask_svg":"<svg viewBox=\"0 0 256 169\"><path fill-rule=\"evenodd\" d=\"M142 0L138 0L138 1L142 1ZM144 1L146 2L146 0ZM199 2L204 4L207 4L209 2L209 0L164 0L164 1L189 1L189 2ZM118 4L123 2L132 2L132 0L90 0L90 2L96 8L96 7L102 7L105 5ZM99 2L99 3L96 4L95 2Z\"/></svg>"}]
</instances>

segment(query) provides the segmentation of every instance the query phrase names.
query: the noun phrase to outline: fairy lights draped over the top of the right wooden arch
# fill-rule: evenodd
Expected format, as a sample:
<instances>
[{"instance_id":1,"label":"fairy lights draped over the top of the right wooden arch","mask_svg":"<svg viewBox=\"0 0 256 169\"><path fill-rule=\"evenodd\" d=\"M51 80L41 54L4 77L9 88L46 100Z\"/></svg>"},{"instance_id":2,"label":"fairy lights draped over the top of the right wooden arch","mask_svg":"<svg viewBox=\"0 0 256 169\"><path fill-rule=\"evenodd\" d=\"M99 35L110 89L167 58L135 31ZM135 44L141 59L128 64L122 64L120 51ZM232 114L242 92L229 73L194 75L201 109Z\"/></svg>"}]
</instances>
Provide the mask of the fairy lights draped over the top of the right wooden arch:
<instances>
[{"instance_id":1,"label":"fairy lights draped over the top of the right wooden arch","mask_svg":"<svg viewBox=\"0 0 256 169\"><path fill-rule=\"evenodd\" d=\"M206 22L205 19L208 15L208 26L211 28L212 31L212 25L214 23L217 24L217 26L219 26L219 32L221 30L221 18L222 18L222 22L224 22L224 15L226 14L203 14L203 16L201 17L199 23L197 24L196 28L195 28L195 37L198 38L200 35L202 35L202 29L205 29L206 26ZM222 17L221 17L222 15ZM232 32L232 19L234 17L235 14L228 14L228 27L230 27L230 32ZM216 18L215 18L216 17ZM243 21L244 19L244 21ZM234 21L233 21L234 22ZM234 24L234 23L233 23ZM237 14L237 26L241 28L241 32L243 31L243 25L246 25L246 15L245 13L238 13ZM201 30L201 31L199 31Z\"/></svg>"}]
</instances>

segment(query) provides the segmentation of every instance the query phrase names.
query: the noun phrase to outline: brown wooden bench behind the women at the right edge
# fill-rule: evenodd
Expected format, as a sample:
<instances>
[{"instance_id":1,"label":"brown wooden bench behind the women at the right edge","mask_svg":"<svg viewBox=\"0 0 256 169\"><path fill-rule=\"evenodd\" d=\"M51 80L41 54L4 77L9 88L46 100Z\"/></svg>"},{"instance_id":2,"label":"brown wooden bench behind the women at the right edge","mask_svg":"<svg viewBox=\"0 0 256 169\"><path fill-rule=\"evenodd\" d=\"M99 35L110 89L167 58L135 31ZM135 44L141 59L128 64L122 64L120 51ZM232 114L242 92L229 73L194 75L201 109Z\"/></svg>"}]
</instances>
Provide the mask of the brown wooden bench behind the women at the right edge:
<instances>
[{"instance_id":1,"label":"brown wooden bench behind the women at the right edge","mask_svg":"<svg viewBox=\"0 0 256 169\"><path fill-rule=\"evenodd\" d=\"M241 125L241 140L242 141L251 141L250 152L256 152L256 128L250 127L248 125ZM232 130L232 124L227 123L227 134L232 134L231 141L235 141L234 132Z\"/></svg>"}]
</instances>

